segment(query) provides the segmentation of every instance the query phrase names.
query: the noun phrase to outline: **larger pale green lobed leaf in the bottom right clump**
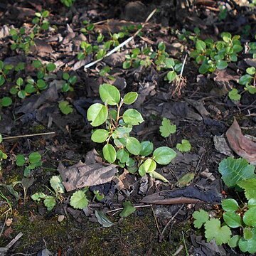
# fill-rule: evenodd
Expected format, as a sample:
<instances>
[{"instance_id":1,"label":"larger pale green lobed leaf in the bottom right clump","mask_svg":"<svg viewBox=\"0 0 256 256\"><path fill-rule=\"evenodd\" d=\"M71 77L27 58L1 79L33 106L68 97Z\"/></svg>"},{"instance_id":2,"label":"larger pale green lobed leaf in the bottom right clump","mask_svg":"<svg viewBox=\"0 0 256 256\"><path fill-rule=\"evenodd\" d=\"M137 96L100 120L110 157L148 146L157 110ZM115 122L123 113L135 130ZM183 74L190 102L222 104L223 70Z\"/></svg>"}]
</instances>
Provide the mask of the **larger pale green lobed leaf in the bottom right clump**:
<instances>
[{"instance_id":1,"label":"larger pale green lobed leaf in the bottom right clump","mask_svg":"<svg viewBox=\"0 0 256 256\"><path fill-rule=\"evenodd\" d=\"M220 227L220 220L212 218L206 221L205 224L206 232L205 236L207 242L210 240L215 240L216 245L222 245L228 242L231 237L230 228L227 225Z\"/></svg>"}]
</instances>

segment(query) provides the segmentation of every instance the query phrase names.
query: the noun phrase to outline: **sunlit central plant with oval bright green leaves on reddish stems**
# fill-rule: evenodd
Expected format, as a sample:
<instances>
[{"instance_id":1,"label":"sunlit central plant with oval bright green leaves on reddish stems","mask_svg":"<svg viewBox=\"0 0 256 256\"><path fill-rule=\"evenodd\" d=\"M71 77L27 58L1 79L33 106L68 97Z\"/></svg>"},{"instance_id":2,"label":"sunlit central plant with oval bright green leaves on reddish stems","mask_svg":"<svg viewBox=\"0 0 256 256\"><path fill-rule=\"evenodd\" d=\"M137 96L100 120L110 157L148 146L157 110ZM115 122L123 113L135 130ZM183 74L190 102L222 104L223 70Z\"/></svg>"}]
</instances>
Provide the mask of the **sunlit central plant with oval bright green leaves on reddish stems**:
<instances>
[{"instance_id":1,"label":"sunlit central plant with oval bright green leaves on reddish stems","mask_svg":"<svg viewBox=\"0 0 256 256\"><path fill-rule=\"evenodd\" d=\"M139 172L141 176L149 174L163 181L166 179L156 173L156 164L169 164L176 156L176 152L167 146L154 150L151 142L139 142L130 136L134 125L144 122L142 114L129 108L122 110L123 105L132 105L137 100L137 92L128 92L120 97L117 87L109 84L100 85L100 98L104 105L95 103L87 110L87 119L95 129L92 141L104 143L102 154L109 163L126 167L130 172Z\"/></svg>"}]
</instances>

